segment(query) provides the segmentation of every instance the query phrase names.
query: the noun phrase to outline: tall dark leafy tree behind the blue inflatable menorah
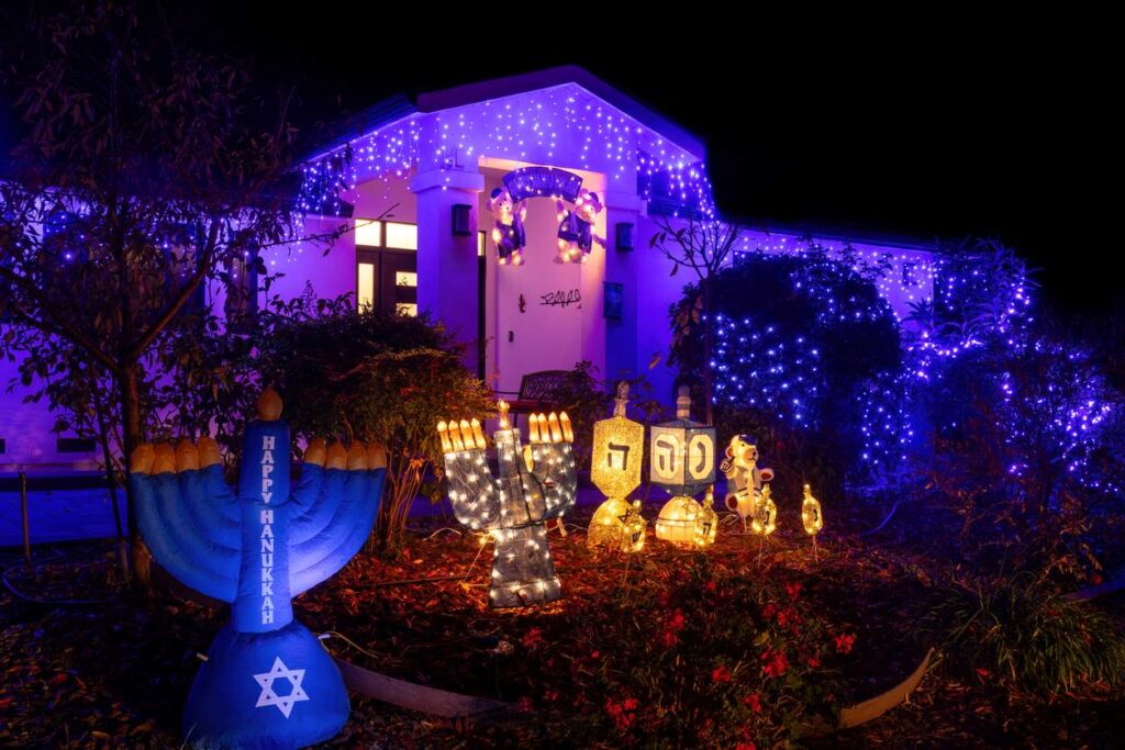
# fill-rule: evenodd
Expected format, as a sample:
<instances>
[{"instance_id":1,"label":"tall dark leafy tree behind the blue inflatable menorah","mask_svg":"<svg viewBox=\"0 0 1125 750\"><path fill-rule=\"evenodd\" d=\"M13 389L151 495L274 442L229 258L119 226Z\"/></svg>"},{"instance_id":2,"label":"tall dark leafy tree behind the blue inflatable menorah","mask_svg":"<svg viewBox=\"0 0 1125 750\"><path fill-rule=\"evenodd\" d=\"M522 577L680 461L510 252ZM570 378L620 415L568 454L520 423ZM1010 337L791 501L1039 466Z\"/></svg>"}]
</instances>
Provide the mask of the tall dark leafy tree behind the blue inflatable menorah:
<instances>
[{"instance_id":1,"label":"tall dark leafy tree behind the blue inflatable menorah","mask_svg":"<svg viewBox=\"0 0 1125 750\"><path fill-rule=\"evenodd\" d=\"M2 353L21 346L25 373L71 378L48 396L78 421L111 390L124 457L162 406L165 347L199 331L206 280L294 238L286 102L255 101L238 64L181 39L98 0L35 17L4 48L28 134L0 184L0 314L20 331ZM91 377L72 378L82 368Z\"/></svg>"}]
</instances>

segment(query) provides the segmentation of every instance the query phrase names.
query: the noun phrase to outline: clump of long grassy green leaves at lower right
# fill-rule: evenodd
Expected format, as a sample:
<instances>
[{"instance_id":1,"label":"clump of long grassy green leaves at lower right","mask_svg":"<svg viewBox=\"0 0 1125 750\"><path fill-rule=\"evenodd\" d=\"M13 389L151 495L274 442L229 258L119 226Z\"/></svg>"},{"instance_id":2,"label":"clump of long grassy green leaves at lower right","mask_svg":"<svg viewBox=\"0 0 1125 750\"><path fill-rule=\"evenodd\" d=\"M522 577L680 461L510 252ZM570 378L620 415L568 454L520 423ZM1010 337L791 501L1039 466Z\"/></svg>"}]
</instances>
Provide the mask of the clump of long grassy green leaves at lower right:
<instances>
[{"instance_id":1,"label":"clump of long grassy green leaves at lower right","mask_svg":"<svg viewBox=\"0 0 1125 750\"><path fill-rule=\"evenodd\" d=\"M1106 614L1028 572L956 584L924 617L954 663L1040 695L1125 681L1125 639Z\"/></svg>"}]
</instances>

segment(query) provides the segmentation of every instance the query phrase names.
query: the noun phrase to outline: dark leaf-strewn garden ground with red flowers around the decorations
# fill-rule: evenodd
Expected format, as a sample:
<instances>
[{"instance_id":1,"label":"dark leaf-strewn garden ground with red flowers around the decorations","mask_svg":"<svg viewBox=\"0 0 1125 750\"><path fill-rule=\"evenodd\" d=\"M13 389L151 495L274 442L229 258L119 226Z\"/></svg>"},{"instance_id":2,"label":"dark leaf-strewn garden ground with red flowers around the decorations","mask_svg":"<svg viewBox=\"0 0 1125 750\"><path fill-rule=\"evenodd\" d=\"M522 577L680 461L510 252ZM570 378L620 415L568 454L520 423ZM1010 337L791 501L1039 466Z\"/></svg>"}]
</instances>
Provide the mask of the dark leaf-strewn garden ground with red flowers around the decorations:
<instances>
[{"instance_id":1,"label":"dark leaf-strewn garden ground with red flowers around the decorations","mask_svg":"<svg viewBox=\"0 0 1125 750\"><path fill-rule=\"evenodd\" d=\"M655 517L659 504L649 504ZM926 614L962 571L955 545L926 533L955 523L937 505L852 510L826 501L813 559L796 512L759 553L726 516L717 543L687 552L658 542L630 558L591 552L590 510L552 531L560 602L526 611L486 606L492 549L476 537L413 527L390 561L361 553L295 602L327 648L413 683L515 704L487 720L435 719L352 695L333 747L1115 747L1123 690L1087 681L1051 697L1014 687L942 649ZM434 532L438 533L434 534ZM180 747L179 714L226 613L161 587L150 602L111 582L108 543L56 545L7 577L44 598L0 591L0 744ZM418 579L440 578L425 582ZM1120 624L1116 596L1096 606ZM906 705L855 729L812 737L835 711L890 688L928 648L934 663Z\"/></svg>"}]
</instances>

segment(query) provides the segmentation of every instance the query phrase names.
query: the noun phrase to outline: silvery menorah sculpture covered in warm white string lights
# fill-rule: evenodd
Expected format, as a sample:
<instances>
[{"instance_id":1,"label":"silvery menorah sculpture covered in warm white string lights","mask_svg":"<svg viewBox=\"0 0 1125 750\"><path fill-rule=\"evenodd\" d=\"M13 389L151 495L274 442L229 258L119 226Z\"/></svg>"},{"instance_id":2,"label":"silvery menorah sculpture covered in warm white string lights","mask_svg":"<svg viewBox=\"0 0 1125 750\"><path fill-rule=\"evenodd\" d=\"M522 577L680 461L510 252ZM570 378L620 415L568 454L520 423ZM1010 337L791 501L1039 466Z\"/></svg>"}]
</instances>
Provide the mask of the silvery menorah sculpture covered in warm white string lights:
<instances>
[{"instance_id":1,"label":"silvery menorah sculpture covered in warm white string lights","mask_svg":"<svg viewBox=\"0 0 1125 750\"><path fill-rule=\"evenodd\" d=\"M495 476L478 421L438 423L453 515L496 541L488 589L495 609L554 602L562 595L546 522L574 505L577 488L574 432L566 413L531 415L531 444L521 448L520 431L507 422L507 404L502 400L498 407Z\"/></svg>"}]
</instances>

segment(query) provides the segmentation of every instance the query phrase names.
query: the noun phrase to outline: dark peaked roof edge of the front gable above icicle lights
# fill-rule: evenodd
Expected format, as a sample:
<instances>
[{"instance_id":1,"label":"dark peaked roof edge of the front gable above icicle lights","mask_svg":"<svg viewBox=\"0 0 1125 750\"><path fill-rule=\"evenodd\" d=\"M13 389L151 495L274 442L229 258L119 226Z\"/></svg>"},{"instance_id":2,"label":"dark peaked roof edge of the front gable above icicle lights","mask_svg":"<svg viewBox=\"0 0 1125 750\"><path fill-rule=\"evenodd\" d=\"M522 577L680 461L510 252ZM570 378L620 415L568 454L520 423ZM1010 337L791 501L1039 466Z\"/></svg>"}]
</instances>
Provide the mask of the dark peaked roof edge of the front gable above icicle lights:
<instances>
[{"instance_id":1,"label":"dark peaked roof edge of the front gable above icicle lights","mask_svg":"<svg viewBox=\"0 0 1125 750\"><path fill-rule=\"evenodd\" d=\"M417 97L417 109L421 112L433 112L566 83L580 85L595 97L605 100L629 117L659 133L696 159L702 160L706 156L706 145L699 136L646 107L620 89L613 88L579 65L559 65L421 93Z\"/></svg>"}]
</instances>

